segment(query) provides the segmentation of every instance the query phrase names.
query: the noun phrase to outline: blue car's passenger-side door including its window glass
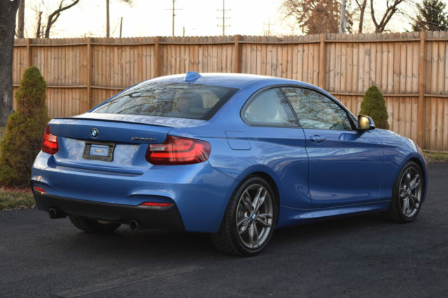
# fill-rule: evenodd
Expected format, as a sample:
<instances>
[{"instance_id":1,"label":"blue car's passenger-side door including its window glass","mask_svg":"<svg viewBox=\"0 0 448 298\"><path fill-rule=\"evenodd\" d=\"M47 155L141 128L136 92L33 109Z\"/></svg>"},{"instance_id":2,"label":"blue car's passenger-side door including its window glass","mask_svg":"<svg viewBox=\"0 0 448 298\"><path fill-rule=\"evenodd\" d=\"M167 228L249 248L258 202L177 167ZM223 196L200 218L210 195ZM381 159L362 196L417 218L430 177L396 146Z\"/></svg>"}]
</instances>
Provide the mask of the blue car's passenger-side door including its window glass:
<instances>
[{"instance_id":1,"label":"blue car's passenger-side door including its window glass","mask_svg":"<svg viewBox=\"0 0 448 298\"><path fill-rule=\"evenodd\" d=\"M371 132L316 90L283 87L304 131L313 208L363 204L379 199L383 148Z\"/></svg>"}]
</instances>

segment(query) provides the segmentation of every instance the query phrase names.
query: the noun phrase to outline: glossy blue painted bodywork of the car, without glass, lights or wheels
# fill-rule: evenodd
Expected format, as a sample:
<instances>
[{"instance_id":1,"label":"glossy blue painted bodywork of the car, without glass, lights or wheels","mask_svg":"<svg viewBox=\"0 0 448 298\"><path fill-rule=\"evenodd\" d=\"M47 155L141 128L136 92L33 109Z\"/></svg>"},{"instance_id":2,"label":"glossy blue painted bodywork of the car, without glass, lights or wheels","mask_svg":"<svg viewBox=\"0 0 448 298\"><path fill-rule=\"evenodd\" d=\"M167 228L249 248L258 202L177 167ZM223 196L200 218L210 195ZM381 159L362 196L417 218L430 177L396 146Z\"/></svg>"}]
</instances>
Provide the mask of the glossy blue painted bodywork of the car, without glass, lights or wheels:
<instances>
[{"instance_id":1,"label":"glossy blue painted bodywork of the car, without glass, lights or wheels","mask_svg":"<svg viewBox=\"0 0 448 298\"><path fill-rule=\"evenodd\" d=\"M299 125L255 127L241 120L246 101L269 86L305 87L337 101L313 85L265 76L188 73L154 78L132 88L186 81L239 91L208 121L94 110L54 119L49 125L58 137L59 151L38 154L31 183L48 194L80 200L130 206L148 200L174 202L187 231L209 233L218 231L230 196L252 173L269 176L279 191L278 227L386 210L395 179L409 159L423 165L426 191L421 151L414 142L393 132L302 129ZM92 127L98 129L94 140ZM148 144L162 143L168 134L209 142L209 159L176 166L146 162ZM134 137L148 141L135 141ZM116 143L113 160L83 159L85 140Z\"/></svg>"}]
</instances>

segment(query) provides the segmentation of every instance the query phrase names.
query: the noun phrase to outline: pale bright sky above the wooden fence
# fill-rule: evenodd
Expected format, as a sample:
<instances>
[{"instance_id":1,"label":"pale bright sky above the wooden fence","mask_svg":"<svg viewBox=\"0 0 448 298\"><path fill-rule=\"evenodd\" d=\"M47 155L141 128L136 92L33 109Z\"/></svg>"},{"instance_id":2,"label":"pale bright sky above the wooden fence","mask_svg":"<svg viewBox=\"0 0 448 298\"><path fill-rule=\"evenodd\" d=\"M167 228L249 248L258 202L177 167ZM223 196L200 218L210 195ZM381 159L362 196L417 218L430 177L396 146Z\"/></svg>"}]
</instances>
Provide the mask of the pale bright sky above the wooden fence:
<instances>
[{"instance_id":1,"label":"pale bright sky above the wooden fence","mask_svg":"<svg viewBox=\"0 0 448 298\"><path fill-rule=\"evenodd\" d=\"M25 0L25 37L34 37L36 10L45 13L55 10L60 0ZM71 0L64 0L69 3ZM226 35L265 35L270 22L270 34L274 36L301 35L293 20L286 20L281 12L284 0L225 0ZM384 1L375 1L378 13L384 12ZM218 36L222 35L223 0L176 0L175 35ZM133 0L132 5L120 0L110 0L111 37L120 34L120 18L123 17L123 37L171 36L172 0ZM45 18L45 17L44 17ZM43 20L46 22L46 20ZM365 15L367 31L370 10ZM354 28L357 28L355 24ZM397 15L390 26L391 31L410 29L408 19ZM76 6L65 10L50 31L50 37L84 37L106 35L106 0L80 0Z\"/></svg>"}]
</instances>

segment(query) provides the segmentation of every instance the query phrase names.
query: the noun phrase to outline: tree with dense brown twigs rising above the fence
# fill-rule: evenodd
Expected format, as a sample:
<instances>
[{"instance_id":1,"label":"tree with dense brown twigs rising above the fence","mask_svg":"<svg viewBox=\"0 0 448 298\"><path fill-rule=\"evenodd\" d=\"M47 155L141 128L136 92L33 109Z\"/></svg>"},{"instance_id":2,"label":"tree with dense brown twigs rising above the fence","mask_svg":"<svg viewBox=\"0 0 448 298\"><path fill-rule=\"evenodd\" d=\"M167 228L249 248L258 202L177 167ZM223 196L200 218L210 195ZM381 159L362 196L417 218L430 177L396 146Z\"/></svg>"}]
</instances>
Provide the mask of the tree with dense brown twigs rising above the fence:
<instances>
[{"instance_id":1,"label":"tree with dense brown twigs rising above the fence","mask_svg":"<svg viewBox=\"0 0 448 298\"><path fill-rule=\"evenodd\" d=\"M293 17L306 34L337 33L341 17L341 3L335 0L286 0L283 10L286 17ZM351 13L346 13L347 27L353 25Z\"/></svg>"}]
</instances>

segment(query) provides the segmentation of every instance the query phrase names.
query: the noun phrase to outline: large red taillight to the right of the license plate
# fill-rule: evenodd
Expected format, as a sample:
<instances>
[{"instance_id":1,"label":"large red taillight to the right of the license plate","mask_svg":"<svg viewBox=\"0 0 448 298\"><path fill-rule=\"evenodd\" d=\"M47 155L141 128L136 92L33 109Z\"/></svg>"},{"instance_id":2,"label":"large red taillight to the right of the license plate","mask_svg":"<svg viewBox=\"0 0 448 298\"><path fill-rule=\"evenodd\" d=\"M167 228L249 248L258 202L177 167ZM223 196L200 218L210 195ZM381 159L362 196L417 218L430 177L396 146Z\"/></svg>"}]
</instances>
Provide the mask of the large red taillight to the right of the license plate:
<instances>
[{"instance_id":1,"label":"large red taillight to the right of the license plate","mask_svg":"<svg viewBox=\"0 0 448 298\"><path fill-rule=\"evenodd\" d=\"M206 141L167 136L165 142L148 146L145 158L151 164L197 164L209 155L210 144Z\"/></svg>"}]
</instances>

